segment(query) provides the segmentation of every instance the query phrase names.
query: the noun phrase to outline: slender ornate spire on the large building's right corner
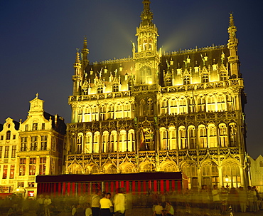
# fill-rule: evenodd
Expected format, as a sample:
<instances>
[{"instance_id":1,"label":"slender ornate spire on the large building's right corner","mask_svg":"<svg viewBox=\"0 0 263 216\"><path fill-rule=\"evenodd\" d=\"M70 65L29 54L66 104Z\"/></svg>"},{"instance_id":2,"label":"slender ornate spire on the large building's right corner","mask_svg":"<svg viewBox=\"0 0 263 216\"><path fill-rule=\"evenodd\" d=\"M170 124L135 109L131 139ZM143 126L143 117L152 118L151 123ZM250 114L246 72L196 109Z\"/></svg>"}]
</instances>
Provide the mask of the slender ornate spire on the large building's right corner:
<instances>
[{"instance_id":1,"label":"slender ornate spire on the large building's right corner","mask_svg":"<svg viewBox=\"0 0 263 216\"><path fill-rule=\"evenodd\" d=\"M240 71L239 71L240 61L237 55L238 40L235 34L237 32L237 27L235 26L232 12L230 13L230 24L227 30L229 34L227 48L230 51L230 56L228 57L228 63L230 63L230 74L232 78L238 78L240 75Z\"/></svg>"}]
</instances>

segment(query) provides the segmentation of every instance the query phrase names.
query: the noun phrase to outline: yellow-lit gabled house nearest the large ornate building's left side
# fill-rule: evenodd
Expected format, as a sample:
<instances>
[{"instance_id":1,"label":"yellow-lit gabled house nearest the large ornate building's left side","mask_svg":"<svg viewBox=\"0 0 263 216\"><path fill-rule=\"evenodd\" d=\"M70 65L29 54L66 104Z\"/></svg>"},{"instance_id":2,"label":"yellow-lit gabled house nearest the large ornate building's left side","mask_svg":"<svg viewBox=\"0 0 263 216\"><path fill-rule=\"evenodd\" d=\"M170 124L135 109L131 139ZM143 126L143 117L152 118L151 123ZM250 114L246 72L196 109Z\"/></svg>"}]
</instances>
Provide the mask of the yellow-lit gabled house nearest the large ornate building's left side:
<instances>
[{"instance_id":1,"label":"yellow-lit gabled house nearest the large ornate building's left side","mask_svg":"<svg viewBox=\"0 0 263 216\"><path fill-rule=\"evenodd\" d=\"M27 197L36 196L36 175L58 175L63 172L63 150L66 125L59 115L46 113L44 101L30 101L25 121L20 122L16 150L16 187L26 189Z\"/></svg>"}]
</instances>

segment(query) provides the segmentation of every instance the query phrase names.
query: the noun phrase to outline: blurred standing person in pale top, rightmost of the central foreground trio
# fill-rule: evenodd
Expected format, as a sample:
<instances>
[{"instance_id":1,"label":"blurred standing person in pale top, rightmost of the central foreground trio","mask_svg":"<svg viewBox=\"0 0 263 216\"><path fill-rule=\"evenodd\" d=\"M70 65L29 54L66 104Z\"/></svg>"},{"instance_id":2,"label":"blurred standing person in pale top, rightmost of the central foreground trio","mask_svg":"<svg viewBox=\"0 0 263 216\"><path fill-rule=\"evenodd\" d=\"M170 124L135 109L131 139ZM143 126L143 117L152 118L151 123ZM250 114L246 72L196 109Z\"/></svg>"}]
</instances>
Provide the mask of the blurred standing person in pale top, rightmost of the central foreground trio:
<instances>
[{"instance_id":1,"label":"blurred standing person in pale top, rightmost of the central foreground trio","mask_svg":"<svg viewBox=\"0 0 263 216\"><path fill-rule=\"evenodd\" d=\"M113 205L114 205L114 215L115 216L124 216L127 200L126 196L124 195L124 188L119 188L118 193L114 195L113 198Z\"/></svg>"}]
</instances>

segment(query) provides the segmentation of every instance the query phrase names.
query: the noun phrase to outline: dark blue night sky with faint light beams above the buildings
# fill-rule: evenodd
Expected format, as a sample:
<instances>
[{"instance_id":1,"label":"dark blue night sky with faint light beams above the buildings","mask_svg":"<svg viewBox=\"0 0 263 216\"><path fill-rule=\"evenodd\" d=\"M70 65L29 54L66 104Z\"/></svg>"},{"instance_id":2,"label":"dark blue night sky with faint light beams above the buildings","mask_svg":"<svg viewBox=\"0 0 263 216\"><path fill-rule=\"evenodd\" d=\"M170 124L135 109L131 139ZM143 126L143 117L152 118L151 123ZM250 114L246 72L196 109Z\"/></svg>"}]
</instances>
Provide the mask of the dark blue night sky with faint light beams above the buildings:
<instances>
[{"instance_id":1,"label":"dark blue night sky with faint light beams above the buildings","mask_svg":"<svg viewBox=\"0 0 263 216\"><path fill-rule=\"evenodd\" d=\"M76 48L87 36L89 60L132 56L142 0L0 1L0 123L26 119L28 101L45 101L45 111L70 122ZM159 47L164 51L227 43L234 12L240 71L245 80L247 150L263 155L262 1L152 0Z\"/></svg>"}]
</instances>

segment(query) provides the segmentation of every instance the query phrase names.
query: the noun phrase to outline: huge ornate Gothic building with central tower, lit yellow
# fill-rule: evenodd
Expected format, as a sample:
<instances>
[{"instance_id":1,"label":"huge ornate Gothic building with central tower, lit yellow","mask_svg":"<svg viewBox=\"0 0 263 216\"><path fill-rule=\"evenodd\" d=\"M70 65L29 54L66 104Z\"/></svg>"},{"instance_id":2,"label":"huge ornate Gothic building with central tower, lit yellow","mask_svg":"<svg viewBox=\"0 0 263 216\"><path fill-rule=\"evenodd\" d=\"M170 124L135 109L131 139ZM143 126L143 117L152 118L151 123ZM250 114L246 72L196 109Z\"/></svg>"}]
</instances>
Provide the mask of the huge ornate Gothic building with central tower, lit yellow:
<instances>
[{"instance_id":1,"label":"huge ornate Gothic building with central tower, lit yellow","mask_svg":"<svg viewBox=\"0 0 263 216\"><path fill-rule=\"evenodd\" d=\"M66 173L183 171L192 189L246 185L246 96L232 14L227 45L163 53L150 1L143 5L132 58L90 63L87 38L77 51Z\"/></svg>"}]
</instances>

